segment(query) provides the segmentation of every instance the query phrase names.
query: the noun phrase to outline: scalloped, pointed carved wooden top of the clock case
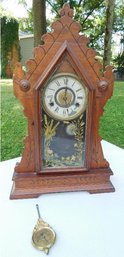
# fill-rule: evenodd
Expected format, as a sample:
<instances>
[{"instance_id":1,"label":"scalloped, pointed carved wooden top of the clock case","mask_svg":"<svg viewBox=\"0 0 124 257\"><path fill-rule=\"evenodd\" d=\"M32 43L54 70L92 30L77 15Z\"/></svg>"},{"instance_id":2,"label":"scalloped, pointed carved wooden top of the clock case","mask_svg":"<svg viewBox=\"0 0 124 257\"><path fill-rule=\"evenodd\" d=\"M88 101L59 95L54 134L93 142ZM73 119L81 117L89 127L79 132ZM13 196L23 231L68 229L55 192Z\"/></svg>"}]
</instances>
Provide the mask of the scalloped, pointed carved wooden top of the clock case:
<instances>
[{"instance_id":1,"label":"scalloped, pointed carved wooden top of the clock case","mask_svg":"<svg viewBox=\"0 0 124 257\"><path fill-rule=\"evenodd\" d=\"M93 83L91 83L90 81L89 84L92 84L92 88L94 88L93 85L95 85L96 83L96 87L98 87L100 92L105 92L105 89L108 88L108 84L111 84L111 82L113 81L112 68L109 66L106 68L104 74L101 72L102 65L96 59L96 52L94 51L94 49L88 47L87 44L89 42L89 39L84 34L80 34L81 25L79 22L73 19L73 10L70 8L70 5L68 3L65 3L63 5L62 9L60 10L60 16L61 17L58 20L55 20L51 24L52 31L42 35L42 41L44 42L44 44L34 48L34 58L29 59L26 62L26 73L23 71L22 65L17 63L16 69L14 71L14 80L19 84L19 88L23 92L28 92L33 87L33 85L31 85L31 83L28 83L27 80L30 80L32 74L34 73L34 71L36 71L36 69L39 69L39 65L42 63L42 61L44 61L46 54L48 52L52 54L52 51L55 50L55 53L57 53L58 51L58 56L60 56L63 51L67 50L67 48L69 50L72 49L74 46L75 49L73 51L70 51L71 57L73 53L75 56L78 56L78 52L80 52L82 58L81 55L80 57L78 56L78 61L81 58L80 62L83 63L83 66L87 65L91 70L90 73L93 72L94 74L96 74L98 80L97 83L94 81ZM73 58L73 60L76 59ZM52 63L54 63L53 59ZM42 69L44 69L44 67L45 66L43 65ZM106 81L108 81L108 83L106 83Z\"/></svg>"}]
</instances>

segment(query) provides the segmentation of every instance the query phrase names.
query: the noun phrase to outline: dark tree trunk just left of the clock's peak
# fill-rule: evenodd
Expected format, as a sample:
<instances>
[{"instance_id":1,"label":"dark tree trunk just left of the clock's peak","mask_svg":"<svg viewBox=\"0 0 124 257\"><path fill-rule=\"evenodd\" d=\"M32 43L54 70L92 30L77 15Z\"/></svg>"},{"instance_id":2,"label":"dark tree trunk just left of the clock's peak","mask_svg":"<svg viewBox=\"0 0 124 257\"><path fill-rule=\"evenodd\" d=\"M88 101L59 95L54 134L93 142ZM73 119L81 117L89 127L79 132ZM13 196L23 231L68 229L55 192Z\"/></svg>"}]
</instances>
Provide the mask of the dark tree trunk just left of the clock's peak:
<instances>
[{"instance_id":1,"label":"dark tree trunk just left of the clock's peak","mask_svg":"<svg viewBox=\"0 0 124 257\"><path fill-rule=\"evenodd\" d=\"M34 46L41 45L41 36L46 33L46 1L33 0Z\"/></svg>"}]
</instances>

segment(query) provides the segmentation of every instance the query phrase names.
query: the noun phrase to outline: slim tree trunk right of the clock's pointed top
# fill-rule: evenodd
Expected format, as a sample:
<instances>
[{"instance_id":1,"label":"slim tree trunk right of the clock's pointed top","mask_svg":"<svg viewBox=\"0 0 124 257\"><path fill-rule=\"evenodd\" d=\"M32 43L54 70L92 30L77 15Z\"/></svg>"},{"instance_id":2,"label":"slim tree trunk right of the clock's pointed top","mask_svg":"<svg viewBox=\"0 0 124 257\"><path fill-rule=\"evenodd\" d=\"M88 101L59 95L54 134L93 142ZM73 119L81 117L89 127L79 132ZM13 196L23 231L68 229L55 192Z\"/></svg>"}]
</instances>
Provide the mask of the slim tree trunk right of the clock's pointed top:
<instances>
[{"instance_id":1,"label":"slim tree trunk right of the clock's pointed top","mask_svg":"<svg viewBox=\"0 0 124 257\"><path fill-rule=\"evenodd\" d=\"M111 60L111 39L112 39L112 27L113 27L113 16L115 0L107 1L106 9L106 28L104 37L104 57L103 57L103 68L110 64Z\"/></svg>"}]
</instances>

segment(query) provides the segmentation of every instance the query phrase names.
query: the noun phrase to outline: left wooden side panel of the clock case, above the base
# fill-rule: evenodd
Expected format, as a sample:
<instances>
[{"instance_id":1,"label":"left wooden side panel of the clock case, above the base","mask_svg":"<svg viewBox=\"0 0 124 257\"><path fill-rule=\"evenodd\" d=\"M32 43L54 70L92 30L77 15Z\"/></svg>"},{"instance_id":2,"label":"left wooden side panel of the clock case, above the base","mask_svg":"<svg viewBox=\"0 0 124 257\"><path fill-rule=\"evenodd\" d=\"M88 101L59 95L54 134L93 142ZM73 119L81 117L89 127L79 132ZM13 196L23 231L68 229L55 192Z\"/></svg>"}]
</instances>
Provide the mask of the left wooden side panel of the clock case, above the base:
<instances>
[{"instance_id":1,"label":"left wooden side panel of the clock case, above the base","mask_svg":"<svg viewBox=\"0 0 124 257\"><path fill-rule=\"evenodd\" d=\"M22 80L25 82L25 80ZM26 81L27 82L27 81ZM24 107L23 113L27 118L27 135L24 139L24 150L21 161L16 163L15 172L32 173L35 171L35 126L34 126L34 97L32 92L23 91L21 83L14 80L14 94Z\"/></svg>"}]
</instances>

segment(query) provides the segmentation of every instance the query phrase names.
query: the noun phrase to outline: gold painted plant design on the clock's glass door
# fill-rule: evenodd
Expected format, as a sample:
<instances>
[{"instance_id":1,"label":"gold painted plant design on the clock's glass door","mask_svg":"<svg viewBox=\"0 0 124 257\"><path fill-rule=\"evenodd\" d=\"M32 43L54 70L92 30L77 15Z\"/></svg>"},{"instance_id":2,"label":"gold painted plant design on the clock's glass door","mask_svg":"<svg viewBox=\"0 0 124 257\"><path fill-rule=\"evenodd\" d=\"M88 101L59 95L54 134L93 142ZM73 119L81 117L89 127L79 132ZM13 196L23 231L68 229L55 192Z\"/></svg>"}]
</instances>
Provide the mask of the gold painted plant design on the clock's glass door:
<instances>
[{"instance_id":1,"label":"gold painted plant design on the clock's glass door","mask_svg":"<svg viewBox=\"0 0 124 257\"><path fill-rule=\"evenodd\" d=\"M55 120L48 121L46 115L44 115L44 129L45 129L45 139L44 139L44 167L68 167L68 166L78 166L83 165L83 138L84 138L84 122L83 115L79 117L78 120L68 121L66 132L69 135L74 135L75 143L74 149L75 154L68 156L58 157L58 154L53 151L51 147L51 142L53 137L56 135L56 129L60 122Z\"/></svg>"}]
</instances>

